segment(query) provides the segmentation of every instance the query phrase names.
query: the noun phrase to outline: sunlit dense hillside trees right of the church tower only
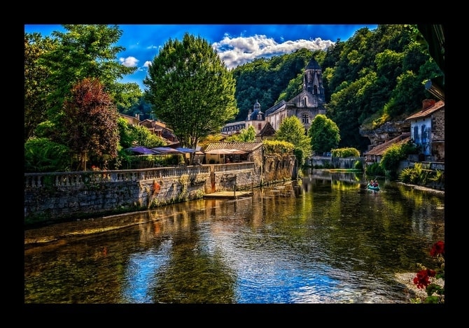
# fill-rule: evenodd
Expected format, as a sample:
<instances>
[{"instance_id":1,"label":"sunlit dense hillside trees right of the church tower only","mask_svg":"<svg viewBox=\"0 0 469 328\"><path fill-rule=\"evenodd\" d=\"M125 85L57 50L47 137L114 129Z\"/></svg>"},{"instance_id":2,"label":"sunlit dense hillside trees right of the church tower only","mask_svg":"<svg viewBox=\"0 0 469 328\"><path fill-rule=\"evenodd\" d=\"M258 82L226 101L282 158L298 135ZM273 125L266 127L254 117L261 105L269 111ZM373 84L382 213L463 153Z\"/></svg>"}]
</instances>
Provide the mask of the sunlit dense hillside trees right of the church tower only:
<instances>
[{"instance_id":1,"label":"sunlit dense hillside trees right of the church tower only","mask_svg":"<svg viewBox=\"0 0 469 328\"><path fill-rule=\"evenodd\" d=\"M383 124L414 113L430 97L423 81L439 72L404 24L356 31L324 78L331 93L327 115L340 129L339 146L366 150L370 141L360 136L360 127L370 117Z\"/></svg>"}]
</instances>

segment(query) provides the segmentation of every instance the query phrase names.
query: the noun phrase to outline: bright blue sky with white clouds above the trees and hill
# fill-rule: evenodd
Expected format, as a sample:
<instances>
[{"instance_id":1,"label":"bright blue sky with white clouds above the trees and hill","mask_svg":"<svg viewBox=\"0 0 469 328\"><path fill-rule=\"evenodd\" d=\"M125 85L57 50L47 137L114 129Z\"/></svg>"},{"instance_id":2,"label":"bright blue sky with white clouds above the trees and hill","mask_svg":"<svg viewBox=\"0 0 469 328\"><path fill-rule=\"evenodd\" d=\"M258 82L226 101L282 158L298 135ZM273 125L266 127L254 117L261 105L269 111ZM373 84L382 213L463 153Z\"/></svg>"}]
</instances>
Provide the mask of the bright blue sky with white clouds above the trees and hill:
<instances>
[{"instance_id":1,"label":"bright blue sky with white clouds above the trees and hill","mask_svg":"<svg viewBox=\"0 0 469 328\"><path fill-rule=\"evenodd\" d=\"M138 70L123 82L137 83L144 90L147 67L169 38L183 38L187 31L206 39L229 68L258 57L272 57L300 48L325 49L340 39L346 41L363 27L376 29L377 24L119 24L123 31L117 45L125 48L118 60ZM25 32L50 36L65 31L58 24L25 24Z\"/></svg>"}]
</instances>

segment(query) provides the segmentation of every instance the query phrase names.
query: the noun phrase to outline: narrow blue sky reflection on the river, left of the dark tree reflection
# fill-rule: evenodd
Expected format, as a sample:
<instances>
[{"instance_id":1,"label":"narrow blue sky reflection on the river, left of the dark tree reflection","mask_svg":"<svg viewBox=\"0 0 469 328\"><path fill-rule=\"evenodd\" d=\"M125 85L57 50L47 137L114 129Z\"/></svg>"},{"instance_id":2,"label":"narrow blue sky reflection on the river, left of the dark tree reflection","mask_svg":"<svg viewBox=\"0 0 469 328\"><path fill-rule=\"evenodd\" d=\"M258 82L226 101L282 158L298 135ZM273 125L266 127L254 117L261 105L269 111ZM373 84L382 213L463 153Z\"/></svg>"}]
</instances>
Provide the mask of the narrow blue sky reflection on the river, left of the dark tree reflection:
<instances>
[{"instance_id":1,"label":"narrow blue sky reflection on the river, left of the dark tree reflection","mask_svg":"<svg viewBox=\"0 0 469 328\"><path fill-rule=\"evenodd\" d=\"M169 260L171 241L164 241L157 250L150 249L130 257L125 272L125 303L153 303L151 290L157 283L156 272Z\"/></svg>"}]
</instances>

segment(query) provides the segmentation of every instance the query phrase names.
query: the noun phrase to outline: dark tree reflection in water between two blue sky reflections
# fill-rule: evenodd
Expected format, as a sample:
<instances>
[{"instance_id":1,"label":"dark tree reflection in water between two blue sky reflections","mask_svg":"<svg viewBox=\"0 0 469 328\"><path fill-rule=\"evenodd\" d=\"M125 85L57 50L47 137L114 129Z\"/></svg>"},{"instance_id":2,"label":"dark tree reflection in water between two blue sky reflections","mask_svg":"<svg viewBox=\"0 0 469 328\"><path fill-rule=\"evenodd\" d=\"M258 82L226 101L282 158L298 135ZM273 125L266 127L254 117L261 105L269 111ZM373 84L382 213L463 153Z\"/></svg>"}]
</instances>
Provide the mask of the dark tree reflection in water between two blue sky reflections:
<instances>
[{"instance_id":1,"label":"dark tree reflection in water between two blue sky reflections","mask_svg":"<svg viewBox=\"0 0 469 328\"><path fill-rule=\"evenodd\" d=\"M195 222L197 213L190 213ZM155 303L225 303L235 302L235 273L223 263L223 254L210 251L198 231L174 235L174 247L165 268L155 276ZM209 236L211 239L211 236Z\"/></svg>"}]
</instances>

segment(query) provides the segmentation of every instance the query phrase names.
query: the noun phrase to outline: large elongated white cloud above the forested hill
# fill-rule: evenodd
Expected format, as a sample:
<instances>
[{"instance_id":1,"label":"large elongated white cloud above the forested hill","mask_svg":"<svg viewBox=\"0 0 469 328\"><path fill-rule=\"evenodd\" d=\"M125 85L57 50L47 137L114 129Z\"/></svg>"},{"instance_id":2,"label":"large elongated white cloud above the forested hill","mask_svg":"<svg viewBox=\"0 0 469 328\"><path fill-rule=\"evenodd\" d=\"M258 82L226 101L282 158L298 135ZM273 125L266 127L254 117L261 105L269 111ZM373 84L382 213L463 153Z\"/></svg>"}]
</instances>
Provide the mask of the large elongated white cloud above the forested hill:
<instances>
[{"instance_id":1,"label":"large elongated white cloud above the forested hill","mask_svg":"<svg viewBox=\"0 0 469 328\"><path fill-rule=\"evenodd\" d=\"M228 69L251 62L259 57L272 57L283 55L301 48L309 50L326 49L333 45L332 41L324 41L321 38L315 40L297 40L276 43L273 38L265 35L255 35L249 37L230 38L225 36L222 41L216 42L212 47L218 52Z\"/></svg>"}]
</instances>

